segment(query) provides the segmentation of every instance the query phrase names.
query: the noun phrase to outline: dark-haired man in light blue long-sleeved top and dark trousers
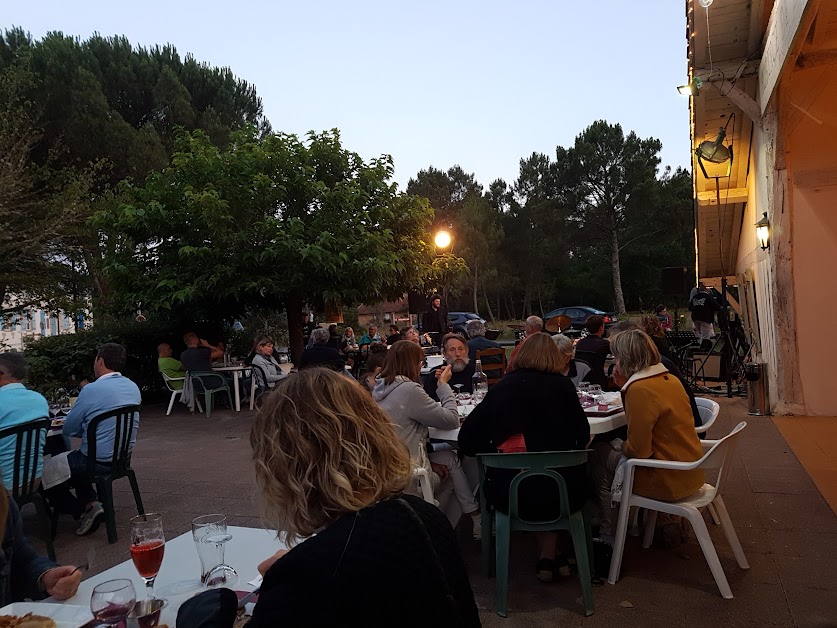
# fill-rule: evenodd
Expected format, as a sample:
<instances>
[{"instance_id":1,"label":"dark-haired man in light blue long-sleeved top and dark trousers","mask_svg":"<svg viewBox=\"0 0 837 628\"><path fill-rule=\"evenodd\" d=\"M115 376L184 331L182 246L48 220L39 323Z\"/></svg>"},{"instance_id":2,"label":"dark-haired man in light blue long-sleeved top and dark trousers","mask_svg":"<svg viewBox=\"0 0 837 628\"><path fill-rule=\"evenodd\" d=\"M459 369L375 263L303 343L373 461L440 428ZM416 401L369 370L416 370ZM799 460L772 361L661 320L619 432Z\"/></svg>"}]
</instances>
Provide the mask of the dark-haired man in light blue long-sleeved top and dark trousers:
<instances>
[{"instance_id":1,"label":"dark-haired man in light blue long-sleeved top and dark trousers","mask_svg":"<svg viewBox=\"0 0 837 628\"><path fill-rule=\"evenodd\" d=\"M139 388L120 371L125 367L128 355L125 347L112 342L99 347L93 362L93 374L96 380L81 389L73 409L64 421L64 436L81 437L81 448L73 450L67 456L70 464L69 484L75 489L74 499L69 495L69 487L63 485L64 510L76 519L81 519L76 534L79 536L93 532L104 518L104 509L98 501L96 491L87 474L87 426L91 419L116 410L123 406L138 406L142 399ZM139 413L134 415L134 431L131 435L130 448L137 442ZM106 473L110 470L113 457L113 445L116 435L116 419L101 423L96 431L97 470ZM56 487L57 490L60 487Z\"/></svg>"}]
</instances>

